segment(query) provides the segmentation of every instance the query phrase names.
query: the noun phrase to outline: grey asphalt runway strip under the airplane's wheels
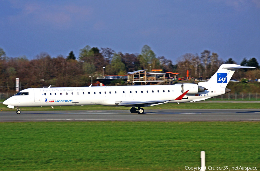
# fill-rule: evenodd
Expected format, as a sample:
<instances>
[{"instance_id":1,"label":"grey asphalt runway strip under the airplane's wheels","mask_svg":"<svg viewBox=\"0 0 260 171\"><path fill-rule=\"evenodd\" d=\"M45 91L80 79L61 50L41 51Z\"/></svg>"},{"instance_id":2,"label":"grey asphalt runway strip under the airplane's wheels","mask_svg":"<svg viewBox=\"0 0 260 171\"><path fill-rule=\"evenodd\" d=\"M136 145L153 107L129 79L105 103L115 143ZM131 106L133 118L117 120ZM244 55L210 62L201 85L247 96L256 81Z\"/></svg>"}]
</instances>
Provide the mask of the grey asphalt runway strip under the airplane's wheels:
<instances>
[{"instance_id":1,"label":"grey asphalt runway strip under the airplane's wheels","mask_svg":"<svg viewBox=\"0 0 260 171\"><path fill-rule=\"evenodd\" d=\"M260 109L181 109L0 112L0 122L27 121L260 121Z\"/></svg>"}]
</instances>

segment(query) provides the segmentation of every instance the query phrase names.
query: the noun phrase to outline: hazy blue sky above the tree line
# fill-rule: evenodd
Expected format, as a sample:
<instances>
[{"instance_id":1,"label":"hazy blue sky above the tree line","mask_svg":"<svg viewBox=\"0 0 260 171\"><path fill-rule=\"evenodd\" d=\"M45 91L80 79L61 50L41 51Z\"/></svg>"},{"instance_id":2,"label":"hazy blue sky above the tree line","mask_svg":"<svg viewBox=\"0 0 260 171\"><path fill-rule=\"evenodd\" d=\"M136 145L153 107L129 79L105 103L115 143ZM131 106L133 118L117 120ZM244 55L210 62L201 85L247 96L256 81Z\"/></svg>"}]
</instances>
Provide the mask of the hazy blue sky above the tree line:
<instances>
[{"instance_id":1,"label":"hazy blue sky above the tree line","mask_svg":"<svg viewBox=\"0 0 260 171\"><path fill-rule=\"evenodd\" d=\"M259 61L260 0L0 0L0 47L10 57L78 56L86 45L140 53L145 44L174 63L205 49Z\"/></svg>"}]
</instances>

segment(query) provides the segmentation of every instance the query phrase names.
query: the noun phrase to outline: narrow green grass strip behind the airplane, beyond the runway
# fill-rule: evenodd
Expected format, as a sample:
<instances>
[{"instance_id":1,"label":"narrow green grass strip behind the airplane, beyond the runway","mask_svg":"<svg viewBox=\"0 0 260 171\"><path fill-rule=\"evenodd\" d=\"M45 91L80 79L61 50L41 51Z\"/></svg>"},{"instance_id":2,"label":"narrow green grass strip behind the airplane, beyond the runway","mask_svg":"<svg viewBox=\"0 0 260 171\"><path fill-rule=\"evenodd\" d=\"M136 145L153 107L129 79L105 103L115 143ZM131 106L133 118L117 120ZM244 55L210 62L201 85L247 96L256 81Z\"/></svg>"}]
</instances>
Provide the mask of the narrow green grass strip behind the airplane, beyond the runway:
<instances>
[{"instance_id":1,"label":"narrow green grass strip behind the airplane, beyond the runway","mask_svg":"<svg viewBox=\"0 0 260 171\"><path fill-rule=\"evenodd\" d=\"M259 109L259 103L169 103L158 106L145 107L144 109ZM63 111L63 110L129 110L130 107L109 107L101 105L90 106L54 106L51 107L21 107L22 111ZM7 108L0 104L1 111L15 111L16 109Z\"/></svg>"}]
</instances>

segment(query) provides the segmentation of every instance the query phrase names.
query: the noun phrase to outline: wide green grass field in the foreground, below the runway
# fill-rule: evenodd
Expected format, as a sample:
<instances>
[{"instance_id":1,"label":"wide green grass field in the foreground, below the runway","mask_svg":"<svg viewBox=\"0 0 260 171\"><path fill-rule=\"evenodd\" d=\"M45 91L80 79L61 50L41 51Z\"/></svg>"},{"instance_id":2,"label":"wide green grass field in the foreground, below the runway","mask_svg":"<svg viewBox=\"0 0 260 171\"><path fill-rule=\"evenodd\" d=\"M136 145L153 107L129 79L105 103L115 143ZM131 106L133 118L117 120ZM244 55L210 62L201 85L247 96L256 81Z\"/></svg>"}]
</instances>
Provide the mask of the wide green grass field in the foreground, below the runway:
<instances>
[{"instance_id":1,"label":"wide green grass field in the foreground, below the runway","mask_svg":"<svg viewBox=\"0 0 260 171\"><path fill-rule=\"evenodd\" d=\"M0 170L260 167L260 122L0 123Z\"/></svg>"}]
</instances>

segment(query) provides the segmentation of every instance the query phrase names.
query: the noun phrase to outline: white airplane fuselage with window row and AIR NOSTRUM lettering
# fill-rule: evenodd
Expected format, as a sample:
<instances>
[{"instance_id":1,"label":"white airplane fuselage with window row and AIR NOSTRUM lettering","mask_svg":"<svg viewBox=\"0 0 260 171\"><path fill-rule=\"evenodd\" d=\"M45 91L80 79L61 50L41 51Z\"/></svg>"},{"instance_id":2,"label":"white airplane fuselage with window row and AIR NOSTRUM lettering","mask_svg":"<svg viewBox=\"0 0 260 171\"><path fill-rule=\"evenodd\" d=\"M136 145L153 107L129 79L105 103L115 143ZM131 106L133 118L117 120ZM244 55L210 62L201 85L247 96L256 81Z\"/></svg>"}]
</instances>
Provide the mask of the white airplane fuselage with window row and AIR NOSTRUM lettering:
<instances>
[{"instance_id":1,"label":"white airplane fuselage with window row and AIR NOSTRUM lettering","mask_svg":"<svg viewBox=\"0 0 260 171\"><path fill-rule=\"evenodd\" d=\"M22 95L23 93L25 95ZM27 95L28 92L28 95ZM186 94L181 100L181 85L129 85L104 87L28 88L5 100L9 107L40 107L69 105L116 106L115 102L140 102L170 100L168 102L192 102L224 94L224 88L214 88L196 94Z\"/></svg>"}]
</instances>

